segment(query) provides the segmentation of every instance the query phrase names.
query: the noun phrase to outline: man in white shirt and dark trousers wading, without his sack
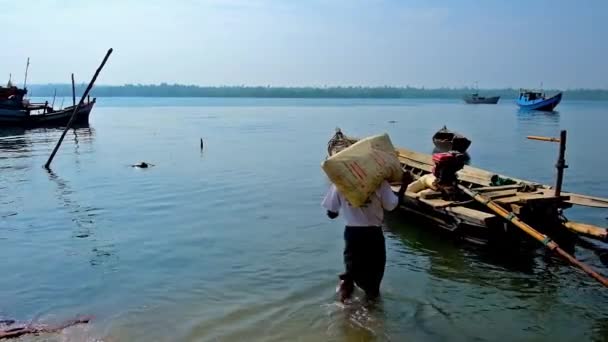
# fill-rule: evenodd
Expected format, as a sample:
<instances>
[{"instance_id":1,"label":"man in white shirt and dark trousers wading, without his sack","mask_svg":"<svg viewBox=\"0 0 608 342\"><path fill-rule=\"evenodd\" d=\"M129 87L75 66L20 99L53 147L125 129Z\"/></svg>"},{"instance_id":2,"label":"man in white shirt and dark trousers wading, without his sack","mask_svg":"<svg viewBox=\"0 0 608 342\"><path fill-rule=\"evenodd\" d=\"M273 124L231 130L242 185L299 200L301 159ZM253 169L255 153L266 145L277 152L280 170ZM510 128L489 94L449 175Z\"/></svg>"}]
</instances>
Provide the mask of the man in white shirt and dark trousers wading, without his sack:
<instances>
[{"instance_id":1,"label":"man in white shirt and dark trousers wading, without his sack","mask_svg":"<svg viewBox=\"0 0 608 342\"><path fill-rule=\"evenodd\" d=\"M380 294L380 283L386 264L386 246L382 223L384 211L394 210L403 199L403 194L412 180L408 172L401 178L401 188L393 193L387 181L376 189L362 207L353 207L346 198L331 185L322 205L330 219L342 212L346 221L344 229L344 268L340 277L340 300L345 302L353 293L354 285L359 286L368 299Z\"/></svg>"}]
</instances>

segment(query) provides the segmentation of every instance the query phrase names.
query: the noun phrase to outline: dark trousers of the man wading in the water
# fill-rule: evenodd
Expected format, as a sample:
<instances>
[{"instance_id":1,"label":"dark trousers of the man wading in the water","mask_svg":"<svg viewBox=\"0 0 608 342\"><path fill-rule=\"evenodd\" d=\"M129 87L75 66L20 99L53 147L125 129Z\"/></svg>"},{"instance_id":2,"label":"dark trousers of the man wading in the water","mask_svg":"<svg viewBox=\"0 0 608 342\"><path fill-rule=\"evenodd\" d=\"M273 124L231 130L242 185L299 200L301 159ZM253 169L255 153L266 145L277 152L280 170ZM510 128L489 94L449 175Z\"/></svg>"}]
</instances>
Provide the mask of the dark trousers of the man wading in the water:
<instances>
[{"instance_id":1,"label":"dark trousers of the man wading in the water","mask_svg":"<svg viewBox=\"0 0 608 342\"><path fill-rule=\"evenodd\" d=\"M380 293L386 265L386 246L380 227L349 227L344 229L344 267L340 275L345 286L359 286L369 298Z\"/></svg>"}]
</instances>

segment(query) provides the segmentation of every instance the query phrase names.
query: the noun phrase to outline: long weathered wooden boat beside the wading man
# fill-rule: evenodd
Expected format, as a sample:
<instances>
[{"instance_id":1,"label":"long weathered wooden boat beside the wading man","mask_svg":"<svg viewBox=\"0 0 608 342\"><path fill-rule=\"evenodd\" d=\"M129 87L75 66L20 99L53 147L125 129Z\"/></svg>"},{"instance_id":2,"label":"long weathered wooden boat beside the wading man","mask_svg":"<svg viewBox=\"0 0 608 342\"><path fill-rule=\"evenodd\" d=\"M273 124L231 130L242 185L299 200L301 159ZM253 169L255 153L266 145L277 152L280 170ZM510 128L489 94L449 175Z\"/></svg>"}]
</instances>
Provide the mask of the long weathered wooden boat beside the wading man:
<instances>
[{"instance_id":1,"label":"long weathered wooden boat beside the wading man","mask_svg":"<svg viewBox=\"0 0 608 342\"><path fill-rule=\"evenodd\" d=\"M337 142L352 144L356 138L334 136L330 145ZM336 153L329 147L330 155ZM414 179L432 172L432 156L404 148L397 148L403 170ZM465 166L458 172L459 182L470 189L483 193L499 205L513 211L521 219L553 237L562 237L570 242L576 235L608 241L606 229L568 221L562 210L573 205L608 208L608 199L562 192L555 196L551 186L496 174L483 169ZM395 192L399 184L393 184ZM424 190L420 193L406 192L400 208L413 217L422 219L434 227L475 244L520 244L529 241L521 230L497 216L487 207L463 196L446 200L442 194ZM533 246L536 246L533 244Z\"/></svg>"}]
</instances>

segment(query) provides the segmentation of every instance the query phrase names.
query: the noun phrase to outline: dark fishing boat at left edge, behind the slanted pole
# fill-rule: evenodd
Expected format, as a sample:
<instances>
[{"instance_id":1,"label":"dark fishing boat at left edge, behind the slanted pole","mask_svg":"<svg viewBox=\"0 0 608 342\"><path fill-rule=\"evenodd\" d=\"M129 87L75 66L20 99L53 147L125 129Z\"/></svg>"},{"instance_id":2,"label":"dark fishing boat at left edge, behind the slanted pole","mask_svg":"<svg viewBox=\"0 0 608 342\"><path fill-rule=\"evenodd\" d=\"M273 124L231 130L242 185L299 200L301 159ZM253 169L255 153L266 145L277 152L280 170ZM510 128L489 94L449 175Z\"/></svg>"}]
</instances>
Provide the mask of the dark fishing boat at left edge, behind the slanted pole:
<instances>
[{"instance_id":1,"label":"dark fishing boat at left edge, behind the slanted pole","mask_svg":"<svg viewBox=\"0 0 608 342\"><path fill-rule=\"evenodd\" d=\"M55 109L48 103L30 103L24 96L27 89L20 89L12 84L0 86L0 127L49 127L64 126L70 121L75 106ZM89 114L96 99L87 99L78 108L74 124L89 122Z\"/></svg>"}]
</instances>

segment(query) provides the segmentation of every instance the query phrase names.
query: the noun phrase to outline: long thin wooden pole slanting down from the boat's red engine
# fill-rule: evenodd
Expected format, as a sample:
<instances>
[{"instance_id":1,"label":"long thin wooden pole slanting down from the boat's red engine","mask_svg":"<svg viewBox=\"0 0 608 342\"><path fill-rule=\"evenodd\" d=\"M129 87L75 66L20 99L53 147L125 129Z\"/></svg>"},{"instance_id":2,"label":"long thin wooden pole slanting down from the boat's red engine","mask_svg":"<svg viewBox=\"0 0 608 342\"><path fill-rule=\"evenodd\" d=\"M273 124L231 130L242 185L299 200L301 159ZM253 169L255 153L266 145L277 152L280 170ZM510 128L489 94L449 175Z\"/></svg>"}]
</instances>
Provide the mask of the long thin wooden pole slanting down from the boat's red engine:
<instances>
[{"instance_id":1,"label":"long thin wooden pole slanting down from the boat's red engine","mask_svg":"<svg viewBox=\"0 0 608 342\"><path fill-rule=\"evenodd\" d=\"M532 236L535 240L537 240L540 243L542 243L543 245L545 245L545 247L547 247L549 250L554 251L555 253L559 254L561 257L568 260L568 262L570 262L571 264L575 265L576 267L582 269L583 271L585 271L585 273L587 273L591 277L595 278L595 280L599 281L604 286L608 287L608 279L604 278L602 275L595 272L591 267L576 260L572 255L568 254L566 251L561 249L557 243L555 243L553 240L551 240L551 238L549 238L545 234L541 234L536 229L530 227L528 224L526 224L525 222L520 220L514 213L505 210L503 207L494 203L488 197L483 196L483 195L479 194L478 192L473 191L461 184L458 184L458 188L460 188L460 190L462 190L465 194L471 196L477 202L487 206L488 208L490 208L492 211L494 211L495 213L497 213L498 215L500 215L507 221L513 223L516 227L523 230L526 234Z\"/></svg>"}]
</instances>

